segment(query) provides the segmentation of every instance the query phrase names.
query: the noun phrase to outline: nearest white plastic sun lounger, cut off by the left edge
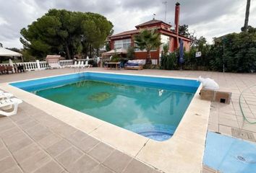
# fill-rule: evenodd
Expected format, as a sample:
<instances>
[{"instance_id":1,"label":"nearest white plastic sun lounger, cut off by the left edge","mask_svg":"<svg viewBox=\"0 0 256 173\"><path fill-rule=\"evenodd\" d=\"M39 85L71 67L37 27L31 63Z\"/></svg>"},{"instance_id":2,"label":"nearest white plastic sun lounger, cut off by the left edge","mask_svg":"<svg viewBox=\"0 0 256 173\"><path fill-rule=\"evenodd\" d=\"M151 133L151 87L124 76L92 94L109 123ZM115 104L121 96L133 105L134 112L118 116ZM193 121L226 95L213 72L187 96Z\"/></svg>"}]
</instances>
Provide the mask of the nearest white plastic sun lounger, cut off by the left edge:
<instances>
[{"instance_id":1,"label":"nearest white plastic sun lounger, cut off by the left edge","mask_svg":"<svg viewBox=\"0 0 256 173\"><path fill-rule=\"evenodd\" d=\"M22 103L22 100L17 98L0 100L0 115L10 116L17 114L18 105L20 103ZM12 111L7 112L6 110Z\"/></svg>"}]
</instances>

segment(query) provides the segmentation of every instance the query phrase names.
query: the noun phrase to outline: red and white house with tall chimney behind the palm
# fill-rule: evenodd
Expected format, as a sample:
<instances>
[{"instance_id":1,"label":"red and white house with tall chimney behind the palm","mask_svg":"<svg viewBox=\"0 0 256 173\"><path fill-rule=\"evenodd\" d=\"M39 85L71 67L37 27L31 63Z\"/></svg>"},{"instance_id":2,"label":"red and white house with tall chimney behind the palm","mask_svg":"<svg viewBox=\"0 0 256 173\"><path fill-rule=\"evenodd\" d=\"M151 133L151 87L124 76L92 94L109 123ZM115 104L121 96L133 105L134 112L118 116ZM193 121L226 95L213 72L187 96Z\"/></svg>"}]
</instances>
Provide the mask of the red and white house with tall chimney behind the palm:
<instances>
[{"instance_id":1,"label":"red and white house with tall chimney behind the palm","mask_svg":"<svg viewBox=\"0 0 256 173\"><path fill-rule=\"evenodd\" d=\"M160 48L156 50L151 50L151 57L153 63L158 64L161 61L161 53L163 51L163 45L168 44L169 52L174 52L179 48L179 40L182 39L184 43L184 49L189 50L191 39L185 37L184 35L179 35L179 3L176 3L175 9L175 30L171 30L171 25L167 24L158 19L152 19L148 22L144 22L140 25L135 26L136 30L124 31L115 35L108 37L111 50L116 50L119 48L127 49L129 46L135 47L134 36L137 35L143 29L156 29L161 33L161 43L163 43ZM145 59L147 57L147 52L145 50L140 50L135 48L135 58Z\"/></svg>"}]
</instances>

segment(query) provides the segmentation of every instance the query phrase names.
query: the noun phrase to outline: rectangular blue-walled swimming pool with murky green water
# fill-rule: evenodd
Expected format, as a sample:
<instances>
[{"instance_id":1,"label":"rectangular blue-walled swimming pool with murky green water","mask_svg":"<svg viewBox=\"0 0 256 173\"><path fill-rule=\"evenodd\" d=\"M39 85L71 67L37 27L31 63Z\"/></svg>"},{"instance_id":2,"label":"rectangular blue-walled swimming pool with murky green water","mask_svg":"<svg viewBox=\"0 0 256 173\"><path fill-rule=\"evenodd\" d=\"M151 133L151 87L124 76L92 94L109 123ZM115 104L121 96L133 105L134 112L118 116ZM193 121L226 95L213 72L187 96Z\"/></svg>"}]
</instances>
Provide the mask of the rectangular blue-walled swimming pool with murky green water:
<instances>
[{"instance_id":1,"label":"rectangular blue-walled swimming pool with murky green water","mask_svg":"<svg viewBox=\"0 0 256 173\"><path fill-rule=\"evenodd\" d=\"M174 134L199 82L84 72L12 83L156 141Z\"/></svg>"}]
</instances>

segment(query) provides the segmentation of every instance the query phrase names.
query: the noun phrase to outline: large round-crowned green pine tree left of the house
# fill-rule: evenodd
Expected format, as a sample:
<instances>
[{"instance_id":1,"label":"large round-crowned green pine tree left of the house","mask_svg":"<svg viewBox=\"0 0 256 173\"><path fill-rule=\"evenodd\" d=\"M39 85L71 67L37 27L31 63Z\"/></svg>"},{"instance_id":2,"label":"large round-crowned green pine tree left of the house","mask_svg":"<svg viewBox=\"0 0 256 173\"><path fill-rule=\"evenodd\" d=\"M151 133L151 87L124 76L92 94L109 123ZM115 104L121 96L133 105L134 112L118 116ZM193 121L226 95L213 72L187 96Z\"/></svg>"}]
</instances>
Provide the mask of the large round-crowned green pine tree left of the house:
<instances>
[{"instance_id":1,"label":"large round-crowned green pine tree left of the house","mask_svg":"<svg viewBox=\"0 0 256 173\"><path fill-rule=\"evenodd\" d=\"M20 41L25 50L38 58L62 51L69 59L77 53L90 53L91 57L105 43L112 27L100 14L50 9L20 31Z\"/></svg>"}]
</instances>

